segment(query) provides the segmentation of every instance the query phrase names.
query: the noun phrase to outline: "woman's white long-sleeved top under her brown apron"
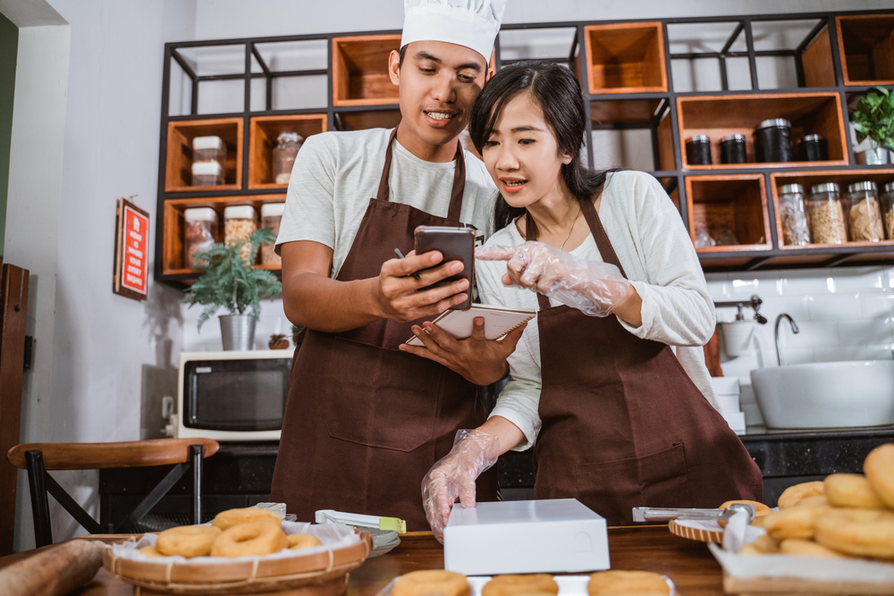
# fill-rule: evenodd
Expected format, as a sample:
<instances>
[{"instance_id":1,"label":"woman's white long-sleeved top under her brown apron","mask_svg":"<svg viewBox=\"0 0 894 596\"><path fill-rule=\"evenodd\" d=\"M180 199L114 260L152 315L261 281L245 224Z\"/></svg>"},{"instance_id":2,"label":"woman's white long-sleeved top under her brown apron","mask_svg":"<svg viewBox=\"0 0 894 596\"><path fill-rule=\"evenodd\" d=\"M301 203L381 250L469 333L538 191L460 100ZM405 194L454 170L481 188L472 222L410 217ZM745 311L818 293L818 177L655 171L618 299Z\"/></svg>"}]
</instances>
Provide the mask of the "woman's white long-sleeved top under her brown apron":
<instances>
[{"instance_id":1,"label":"woman's white long-sleeved top under her brown apron","mask_svg":"<svg viewBox=\"0 0 894 596\"><path fill-rule=\"evenodd\" d=\"M643 299L642 325L632 327L618 321L638 338L671 346L705 399L718 407L702 349L714 332L714 305L677 207L649 174L614 172L605 181L599 219L624 272ZM513 222L485 244L517 246L524 242ZM592 234L570 254L585 261L603 261ZM475 268L482 303L537 308L536 293L502 284L505 261L476 261ZM561 302L551 299L550 304ZM491 416L502 416L525 433L527 441L514 448L518 451L529 448L540 431L540 362L540 333L535 319L527 324L518 348L509 357L510 381L491 412Z\"/></svg>"}]
</instances>

